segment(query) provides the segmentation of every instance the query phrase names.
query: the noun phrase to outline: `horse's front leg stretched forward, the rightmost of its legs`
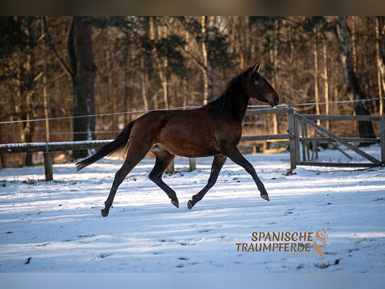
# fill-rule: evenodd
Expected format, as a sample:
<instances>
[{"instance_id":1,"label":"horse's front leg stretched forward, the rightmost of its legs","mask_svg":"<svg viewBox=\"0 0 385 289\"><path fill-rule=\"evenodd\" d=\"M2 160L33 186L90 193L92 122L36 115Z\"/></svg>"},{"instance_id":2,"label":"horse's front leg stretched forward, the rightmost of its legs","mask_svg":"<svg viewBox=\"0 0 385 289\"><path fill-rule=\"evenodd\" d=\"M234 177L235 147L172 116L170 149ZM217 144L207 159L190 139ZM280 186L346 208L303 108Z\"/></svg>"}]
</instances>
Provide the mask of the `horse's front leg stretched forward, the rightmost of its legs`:
<instances>
[{"instance_id":1,"label":"horse's front leg stretched forward, the rightmost of its legs","mask_svg":"<svg viewBox=\"0 0 385 289\"><path fill-rule=\"evenodd\" d=\"M259 179L253 165L250 164L244 156L242 156L241 152L236 146L227 146L224 150L224 154L226 154L234 163L244 168L246 172L248 172L252 176L255 184L257 185L258 190L260 191L261 198L269 201L270 199L266 192L265 186Z\"/></svg>"}]
</instances>

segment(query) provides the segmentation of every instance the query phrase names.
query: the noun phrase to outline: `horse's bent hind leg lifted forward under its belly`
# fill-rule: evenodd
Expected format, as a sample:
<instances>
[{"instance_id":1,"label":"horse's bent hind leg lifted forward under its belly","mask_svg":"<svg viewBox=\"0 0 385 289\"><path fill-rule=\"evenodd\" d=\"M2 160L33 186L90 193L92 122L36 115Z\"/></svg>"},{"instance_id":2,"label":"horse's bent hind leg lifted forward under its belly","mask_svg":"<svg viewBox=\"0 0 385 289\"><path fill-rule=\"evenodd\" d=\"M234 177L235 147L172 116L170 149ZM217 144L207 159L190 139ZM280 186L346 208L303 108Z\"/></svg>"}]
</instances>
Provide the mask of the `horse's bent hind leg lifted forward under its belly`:
<instances>
[{"instance_id":1,"label":"horse's bent hind leg lifted forward under its belly","mask_svg":"<svg viewBox=\"0 0 385 289\"><path fill-rule=\"evenodd\" d=\"M155 155L156 161L155 166L148 177L167 194L167 196L171 199L171 203L178 208L179 201L176 197L175 191L166 185L162 180L164 171L171 164L172 160L175 158L175 155L159 146L155 146L151 152Z\"/></svg>"}]
</instances>

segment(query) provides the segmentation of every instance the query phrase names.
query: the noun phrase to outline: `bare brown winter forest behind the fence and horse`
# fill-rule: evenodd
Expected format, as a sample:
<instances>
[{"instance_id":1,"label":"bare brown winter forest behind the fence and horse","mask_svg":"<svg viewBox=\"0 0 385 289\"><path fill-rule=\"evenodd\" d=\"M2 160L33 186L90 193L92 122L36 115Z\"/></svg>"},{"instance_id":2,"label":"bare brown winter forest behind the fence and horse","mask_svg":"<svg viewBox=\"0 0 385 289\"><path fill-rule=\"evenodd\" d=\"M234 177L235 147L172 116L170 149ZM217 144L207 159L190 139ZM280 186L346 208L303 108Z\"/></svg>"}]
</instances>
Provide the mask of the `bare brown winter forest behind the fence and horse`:
<instances>
[{"instance_id":1,"label":"bare brown winter forest behind the fence and horse","mask_svg":"<svg viewBox=\"0 0 385 289\"><path fill-rule=\"evenodd\" d=\"M385 17L0 17L0 38L0 143L115 138L148 110L213 101L255 62L280 105L300 113L385 111ZM341 136L378 131L323 125ZM247 116L244 128L280 133L287 123ZM0 168L36 158L0 154Z\"/></svg>"}]
</instances>

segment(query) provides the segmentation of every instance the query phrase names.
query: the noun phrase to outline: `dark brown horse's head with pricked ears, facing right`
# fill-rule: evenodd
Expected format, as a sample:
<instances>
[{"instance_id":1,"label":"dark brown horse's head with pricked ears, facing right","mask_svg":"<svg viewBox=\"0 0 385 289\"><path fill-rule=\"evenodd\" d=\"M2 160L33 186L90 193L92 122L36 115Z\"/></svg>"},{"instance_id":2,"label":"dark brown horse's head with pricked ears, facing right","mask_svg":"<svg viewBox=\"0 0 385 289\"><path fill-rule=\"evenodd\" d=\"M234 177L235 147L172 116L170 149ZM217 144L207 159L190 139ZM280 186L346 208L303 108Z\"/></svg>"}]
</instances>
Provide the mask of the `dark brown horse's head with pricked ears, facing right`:
<instances>
[{"instance_id":1,"label":"dark brown horse's head with pricked ears, facing right","mask_svg":"<svg viewBox=\"0 0 385 289\"><path fill-rule=\"evenodd\" d=\"M272 107L279 104L279 97L273 87L258 72L261 63L255 62L246 70L245 92L251 98L267 102Z\"/></svg>"}]
</instances>

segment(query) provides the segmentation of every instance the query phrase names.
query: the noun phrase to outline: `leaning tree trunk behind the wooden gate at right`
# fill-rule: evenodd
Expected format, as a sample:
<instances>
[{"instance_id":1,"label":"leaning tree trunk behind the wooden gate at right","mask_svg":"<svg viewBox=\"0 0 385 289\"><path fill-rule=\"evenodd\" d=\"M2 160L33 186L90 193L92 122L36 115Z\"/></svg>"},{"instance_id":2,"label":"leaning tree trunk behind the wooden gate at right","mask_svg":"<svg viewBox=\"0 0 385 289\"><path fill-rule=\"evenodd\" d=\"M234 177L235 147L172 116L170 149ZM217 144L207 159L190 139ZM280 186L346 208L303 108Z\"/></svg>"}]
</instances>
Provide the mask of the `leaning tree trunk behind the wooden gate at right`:
<instances>
[{"instance_id":1,"label":"leaning tree trunk behind the wooden gate at right","mask_svg":"<svg viewBox=\"0 0 385 289\"><path fill-rule=\"evenodd\" d=\"M354 102L354 110L356 115L370 115L369 109L364 101L365 93L362 91L358 77L353 68L353 58L350 49L350 35L346 25L346 16L336 17L337 36L340 43L342 68L348 93L352 94ZM370 121L358 121L358 133L360 137L375 137L373 125ZM365 143L361 143L364 146ZM366 144L367 145L367 144Z\"/></svg>"}]
</instances>

